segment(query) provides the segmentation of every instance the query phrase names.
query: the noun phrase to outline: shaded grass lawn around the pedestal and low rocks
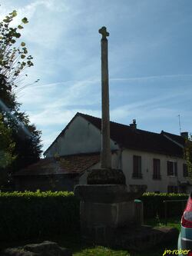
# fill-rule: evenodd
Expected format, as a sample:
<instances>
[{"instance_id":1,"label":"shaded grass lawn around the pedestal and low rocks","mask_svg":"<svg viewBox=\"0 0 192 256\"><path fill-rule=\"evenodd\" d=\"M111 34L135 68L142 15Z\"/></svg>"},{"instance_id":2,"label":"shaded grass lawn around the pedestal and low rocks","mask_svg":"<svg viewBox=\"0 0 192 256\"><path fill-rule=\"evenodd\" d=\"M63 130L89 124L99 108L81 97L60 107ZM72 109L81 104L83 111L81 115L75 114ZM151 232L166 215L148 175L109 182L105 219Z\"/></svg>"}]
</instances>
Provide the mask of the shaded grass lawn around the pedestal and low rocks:
<instances>
[{"instance_id":1,"label":"shaded grass lawn around the pedestal and low rocks","mask_svg":"<svg viewBox=\"0 0 192 256\"><path fill-rule=\"evenodd\" d=\"M146 220L144 224L151 225L153 227L163 227L165 226L164 219L149 219ZM167 221L167 226L174 227L180 230L180 218L171 218ZM86 244L81 244L80 235L73 234L68 235L67 237L62 238L39 238L38 241L19 241L15 243L8 243L8 244L0 244L1 248L8 248L8 247L15 247L15 246L22 246L29 243L37 243L45 240L56 241L62 247L69 248L73 252L73 256L162 256L164 254L164 250L170 249L177 249L177 241L173 241L171 244L161 244L158 245L156 248L152 248L150 251L142 251L142 252L134 252L134 251L127 251L127 250L115 250L111 248L104 248L101 246L88 246Z\"/></svg>"}]
</instances>

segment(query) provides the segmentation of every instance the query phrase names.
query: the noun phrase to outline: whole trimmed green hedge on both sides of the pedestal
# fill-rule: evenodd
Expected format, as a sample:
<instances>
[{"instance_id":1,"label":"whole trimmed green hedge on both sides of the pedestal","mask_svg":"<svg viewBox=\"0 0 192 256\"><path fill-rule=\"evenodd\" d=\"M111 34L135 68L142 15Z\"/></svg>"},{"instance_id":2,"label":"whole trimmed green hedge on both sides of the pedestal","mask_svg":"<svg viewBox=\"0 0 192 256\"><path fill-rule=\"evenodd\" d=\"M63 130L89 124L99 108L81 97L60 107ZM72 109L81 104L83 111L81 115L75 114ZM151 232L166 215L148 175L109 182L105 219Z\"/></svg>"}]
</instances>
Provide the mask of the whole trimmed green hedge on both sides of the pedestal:
<instances>
[{"instance_id":1,"label":"whole trimmed green hedge on both sides of the pedestal","mask_svg":"<svg viewBox=\"0 0 192 256\"><path fill-rule=\"evenodd\" d=\"M187 199L188 194L145 193L144 218L164 217L164 200ZM168 204L168 217L181 216L184 205ZM73 192L0 193L0 241L37 239L80 230L79 201Z\"/></svg>"}]
</instances>

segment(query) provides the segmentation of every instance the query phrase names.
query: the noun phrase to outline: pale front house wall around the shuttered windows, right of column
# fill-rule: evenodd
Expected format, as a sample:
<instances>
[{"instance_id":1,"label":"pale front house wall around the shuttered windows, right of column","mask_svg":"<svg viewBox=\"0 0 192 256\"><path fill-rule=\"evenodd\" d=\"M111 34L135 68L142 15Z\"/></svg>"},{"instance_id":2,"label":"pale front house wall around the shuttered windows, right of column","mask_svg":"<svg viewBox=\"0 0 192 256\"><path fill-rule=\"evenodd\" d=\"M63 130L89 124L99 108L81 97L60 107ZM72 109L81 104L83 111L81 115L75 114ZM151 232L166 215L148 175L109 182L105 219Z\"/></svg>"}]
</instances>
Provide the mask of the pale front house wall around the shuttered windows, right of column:
<instances>
[{"instance_id":1,"label":"pale front house wall around the shuttered windows, right of column","mask_svg":"<svg viewBox=\"0 0 192 256\"><path fill-rule=\"evenodd\" d=\"M141 171L143 178L132 178L133 156L141 156ZM161 179L153 179L153 159L161 161ZM167 176L167 161L177 161L177 177ZM127 185L147 185L147 191L167 192L168 185L178 186L178 181L186 182L183 176L184 159L169 155L153 154L144 151L124 150L122 152L122 170L126 177Z\"/></svg>"}]
</instances>

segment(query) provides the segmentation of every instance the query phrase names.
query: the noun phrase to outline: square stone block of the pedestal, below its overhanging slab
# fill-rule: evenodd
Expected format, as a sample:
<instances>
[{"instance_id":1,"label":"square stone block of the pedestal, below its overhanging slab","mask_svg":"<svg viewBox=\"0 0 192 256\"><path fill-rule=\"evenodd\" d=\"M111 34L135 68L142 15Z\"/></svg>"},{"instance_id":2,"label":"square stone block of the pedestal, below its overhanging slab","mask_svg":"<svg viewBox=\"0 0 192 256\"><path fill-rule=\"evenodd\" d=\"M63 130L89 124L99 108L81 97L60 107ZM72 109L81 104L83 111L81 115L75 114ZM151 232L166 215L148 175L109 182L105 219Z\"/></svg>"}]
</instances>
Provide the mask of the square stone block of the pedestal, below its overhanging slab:
<instances>
[{"instance_id":1,"label":"square stone block of the pedestal, below its overhanging slab","mask_svg":"<svg viewBox=\"0 0 192 256\"><path fill-rule=\"evenodd\" d=\"M94 244L110 245L117 228L134 223L134 201L80 203L81 238Z\"/></svg>"}]
</instances>

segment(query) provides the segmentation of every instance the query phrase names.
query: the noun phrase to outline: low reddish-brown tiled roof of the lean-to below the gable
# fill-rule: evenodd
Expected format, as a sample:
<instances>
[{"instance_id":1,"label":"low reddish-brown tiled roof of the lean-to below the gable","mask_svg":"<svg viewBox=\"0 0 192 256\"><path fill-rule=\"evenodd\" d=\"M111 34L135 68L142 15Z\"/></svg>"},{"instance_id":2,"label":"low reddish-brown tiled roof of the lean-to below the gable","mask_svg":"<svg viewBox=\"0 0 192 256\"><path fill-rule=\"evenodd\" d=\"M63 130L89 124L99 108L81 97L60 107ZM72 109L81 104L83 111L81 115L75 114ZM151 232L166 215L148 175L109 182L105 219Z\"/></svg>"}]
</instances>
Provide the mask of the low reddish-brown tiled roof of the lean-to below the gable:
<instances>
[{"instance_id":1,"label":"low reddish-brown tiled roof of the lean-to below the gable","mask_svg":"<svg viewBox=\"0 0 192 256\"><path fill-rule=\"evenodd\" d=\"M100 154L67 155L59 158L43 158L29 165L15 176L81 174L100 161Z\"/></svg>"}]
</instances>

